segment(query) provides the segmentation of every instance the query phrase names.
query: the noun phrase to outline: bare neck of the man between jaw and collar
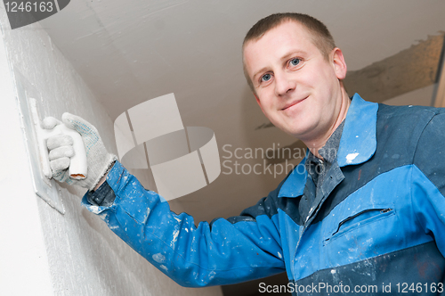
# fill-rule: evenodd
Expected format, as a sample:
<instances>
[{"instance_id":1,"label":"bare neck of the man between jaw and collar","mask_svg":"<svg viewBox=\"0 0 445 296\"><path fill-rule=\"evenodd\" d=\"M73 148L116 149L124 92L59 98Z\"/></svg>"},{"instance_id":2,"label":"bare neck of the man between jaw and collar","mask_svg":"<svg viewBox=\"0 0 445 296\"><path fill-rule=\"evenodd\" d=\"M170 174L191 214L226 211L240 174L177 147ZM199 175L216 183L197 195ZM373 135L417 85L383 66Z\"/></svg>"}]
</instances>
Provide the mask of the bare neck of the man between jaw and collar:
<instances>
[{"instance_id":1,"label":"bare neck of the man between jaw and collar","mask_svg":"<svg viewBox=\"0 0 445 296\"><path fill-rule=\"evenodd\" d=\"M308 140L303 140L303 143L309 148L313 155L322 159L319 151L328 142L328 139L336 131L336 128L343 122L346 118L346 113L348 112L351 100L344 88L342 88L341 100L339 102L339 108L333 123L328 127L328 129L320 136Z\"/></svg>"}]
</instances>

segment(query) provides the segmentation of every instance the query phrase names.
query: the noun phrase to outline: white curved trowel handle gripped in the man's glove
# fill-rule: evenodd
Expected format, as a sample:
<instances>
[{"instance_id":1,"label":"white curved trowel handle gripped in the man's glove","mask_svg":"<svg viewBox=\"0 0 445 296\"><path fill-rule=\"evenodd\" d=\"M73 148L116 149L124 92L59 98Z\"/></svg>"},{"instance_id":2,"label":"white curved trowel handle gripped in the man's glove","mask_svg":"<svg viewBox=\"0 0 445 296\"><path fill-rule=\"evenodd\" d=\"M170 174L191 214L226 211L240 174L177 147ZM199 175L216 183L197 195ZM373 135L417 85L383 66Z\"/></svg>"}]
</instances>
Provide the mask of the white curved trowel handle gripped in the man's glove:
<instances>
[{"instance_id":1,"label":"white curved trowel handle gripped in the man's glove","mask_svg":"<svg viewBox=\"0 0 445 296\"><path fill-rule=\"evenodd\" d=\"M69 135L73 138L74 156L70 159L69 176L77 180L85 179L88 163L82 136L80 136L76 130L71 129L64 124L54 127L53 130L57 130L61 134Z\"/></svg>"}]
</instances>

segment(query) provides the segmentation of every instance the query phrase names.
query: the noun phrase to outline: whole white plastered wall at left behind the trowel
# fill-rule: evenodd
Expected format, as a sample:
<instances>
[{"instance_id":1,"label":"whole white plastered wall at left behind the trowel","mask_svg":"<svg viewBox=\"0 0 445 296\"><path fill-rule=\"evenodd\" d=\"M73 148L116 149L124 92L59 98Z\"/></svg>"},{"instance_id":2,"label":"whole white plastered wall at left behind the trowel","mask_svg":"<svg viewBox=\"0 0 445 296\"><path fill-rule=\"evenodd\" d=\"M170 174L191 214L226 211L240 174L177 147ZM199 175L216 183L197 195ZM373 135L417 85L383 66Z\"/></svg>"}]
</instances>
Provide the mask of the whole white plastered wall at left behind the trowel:
<instances>
[{"instance_id":1,"label":"whole white plastered wall at left behind the trowel","mask_svg":"<svg viewBox=\"0 0 445 296\"><path fill-rule=\"evenodd\" d=\"M222 295L220 287L182 288L150 266L100 218L81 207L80 198L85 190L68 185L59 187L65 215L36 197L20 130L12 73L38 90L40 97L36 99L41 116L61 118L64 111L75 113L92 122L109 151L116 153L113 122L38 23L11 30L3 5L0 5L0 21L3 30L0 157L2 168L6 168L0 172L3 193L0 294ZM2 52L4 49L6 53ZM6 55L8 64L4 61ZM5 81L9 81L6 90ZM14 259L20 259L15 267L25 276L13 270ZM4 290L4 279L8 276L12 284L7 287L10 290ZM32 286L27 288L29 283ZM16 285L15 290L12 285Z\"/></svg>"}]
</instances>

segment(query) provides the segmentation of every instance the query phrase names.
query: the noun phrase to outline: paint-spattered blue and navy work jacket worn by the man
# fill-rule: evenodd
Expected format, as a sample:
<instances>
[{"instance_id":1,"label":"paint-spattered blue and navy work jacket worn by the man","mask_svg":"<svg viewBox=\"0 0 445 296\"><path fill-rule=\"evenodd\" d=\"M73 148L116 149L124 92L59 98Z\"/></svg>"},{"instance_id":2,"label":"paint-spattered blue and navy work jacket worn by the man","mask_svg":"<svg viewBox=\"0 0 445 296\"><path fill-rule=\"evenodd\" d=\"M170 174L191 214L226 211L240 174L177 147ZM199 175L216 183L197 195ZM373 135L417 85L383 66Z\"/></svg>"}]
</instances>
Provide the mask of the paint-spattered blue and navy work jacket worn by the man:
<instances>
[{"instance_id":1,"label":"paint-spattered blue and navy work jacket worn by the man","mask_svg":"<svg viewBox=\"0 0 445 296\"><path fill-rule=\"evenodd\" d=\"M443 111L368 103L356 94L317 196L302 160L255 206L210 224L196 226L186 213L172 212L118 162L104 184L114 203L95 206L85 195L83 204L184 286L235 284L286 270L287 292L298 294L387 295L413 292L412 284L415 294L440 293ZM305 198L314 200L309 216L300 215Z\"/></svg>"}]
</instances>

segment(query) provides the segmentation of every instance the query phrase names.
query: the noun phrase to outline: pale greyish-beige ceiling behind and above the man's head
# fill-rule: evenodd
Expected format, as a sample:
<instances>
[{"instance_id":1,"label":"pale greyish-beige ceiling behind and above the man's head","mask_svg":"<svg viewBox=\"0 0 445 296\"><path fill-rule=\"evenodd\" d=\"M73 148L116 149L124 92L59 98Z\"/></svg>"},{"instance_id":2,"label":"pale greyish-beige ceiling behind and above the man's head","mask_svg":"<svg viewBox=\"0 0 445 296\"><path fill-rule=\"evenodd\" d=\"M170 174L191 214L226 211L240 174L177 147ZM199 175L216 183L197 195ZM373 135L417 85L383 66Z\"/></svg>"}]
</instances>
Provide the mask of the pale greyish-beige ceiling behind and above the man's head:
<instances>
[{"instance_id":1,"label":"pale greyish-beige ceiling behind and above the man's head","mask_svg":"<svg viewBox=\"0 0 445 296\"><path fill-rule=\"evenodd\" d=\"M184 126L212 128L220 156L227 157L236 148L295 143L264 118L241 66L247 30L273 12L304 12L325 22L351 71L445 30L445 1L437 0L76 0L40 23L111 119L174 93ZM239 160L244 163L263 159ZM234 162L226 166L235 169ZM197 221L227 218L284 177L228 173L223 168L212 184L172 201L172 208Z\"/></svg>"}]
</instances>

